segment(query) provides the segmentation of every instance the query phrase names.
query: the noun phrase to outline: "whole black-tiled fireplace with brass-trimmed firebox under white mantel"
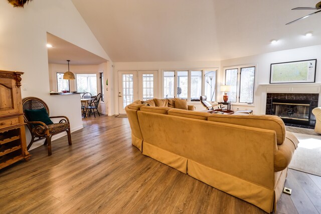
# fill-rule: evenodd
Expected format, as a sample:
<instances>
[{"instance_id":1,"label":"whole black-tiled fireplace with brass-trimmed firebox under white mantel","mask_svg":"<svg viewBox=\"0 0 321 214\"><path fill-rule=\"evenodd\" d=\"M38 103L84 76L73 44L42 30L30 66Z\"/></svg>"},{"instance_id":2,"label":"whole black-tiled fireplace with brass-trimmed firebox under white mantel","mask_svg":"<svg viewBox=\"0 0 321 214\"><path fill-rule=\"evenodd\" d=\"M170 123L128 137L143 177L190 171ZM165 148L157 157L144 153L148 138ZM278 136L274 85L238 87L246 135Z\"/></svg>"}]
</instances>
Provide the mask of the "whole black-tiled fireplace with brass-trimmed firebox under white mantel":
<instances>
[{"instance_id":1,"label":"whole black-tiled fireplace with brass-trimmed firebox under white mantel","mask_svg":"<svg viewBox=\"0 0 321 214\"><path fill-rule=\"evenodd\" d=\"M279 116L287 126L311 128L315 126L312 109L318 105L318 94L267 93L266 112Z\"/></svg>"}]
</instances>

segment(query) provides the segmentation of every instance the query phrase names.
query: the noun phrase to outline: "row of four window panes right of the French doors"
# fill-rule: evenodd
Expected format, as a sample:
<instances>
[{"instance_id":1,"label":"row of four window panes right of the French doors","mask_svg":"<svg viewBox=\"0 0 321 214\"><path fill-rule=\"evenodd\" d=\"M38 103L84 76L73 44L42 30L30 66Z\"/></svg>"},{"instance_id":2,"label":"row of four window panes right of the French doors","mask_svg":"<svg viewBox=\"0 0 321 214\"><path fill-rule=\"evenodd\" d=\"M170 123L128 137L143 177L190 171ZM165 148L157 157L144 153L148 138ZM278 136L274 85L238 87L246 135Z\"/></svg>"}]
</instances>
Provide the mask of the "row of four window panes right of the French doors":
<instances>
[{"instance_id":1,"label":"row of four window panes right of the French doors","mask_svg":"<svg viewBox=\"0 0 321 214\"><path fill-rule=\"evenodd\" d=\"M182 98L200 101L206 95L207 100L216 100L216 70L164 71L164 98Z\"/></svg>"}]
</instances>

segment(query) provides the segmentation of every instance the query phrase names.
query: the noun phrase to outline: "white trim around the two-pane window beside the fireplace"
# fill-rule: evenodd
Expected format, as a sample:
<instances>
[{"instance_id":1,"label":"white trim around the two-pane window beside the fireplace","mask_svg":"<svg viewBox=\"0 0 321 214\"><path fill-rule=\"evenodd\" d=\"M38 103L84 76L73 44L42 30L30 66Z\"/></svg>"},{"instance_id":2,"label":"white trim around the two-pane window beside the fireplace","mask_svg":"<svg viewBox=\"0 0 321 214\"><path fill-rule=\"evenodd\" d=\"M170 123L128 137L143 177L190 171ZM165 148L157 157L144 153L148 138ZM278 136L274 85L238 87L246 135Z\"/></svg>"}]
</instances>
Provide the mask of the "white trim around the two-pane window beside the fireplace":
<instances>
[{"instance_id":1,"label":"white trim around the two-pane window beside the fireplace","mask_svg":"<svg viewBox=\"0 0 321 214\"><path fill-rule=\"evenodd\" d=\"M249 67L254 67L255 72L254 72L254 88L253 88L253 103L248 104L248 103L240 103L240 84L241 84L241 68L249 68ZM254 64L248 64L248 65L238 65L238 66L229 66L229 67L223 67L223 82L222 85L225 85L225 77L226 77L226 70L229 69L237 69L237 86L236 86L236 102L231 102L232 105L240 105L240 106L254 106L255 103L255 90L256 90L256 75L257 75L257 65ZM220 91L221 96L222 92Z\"/></svg>"}]
</instances>

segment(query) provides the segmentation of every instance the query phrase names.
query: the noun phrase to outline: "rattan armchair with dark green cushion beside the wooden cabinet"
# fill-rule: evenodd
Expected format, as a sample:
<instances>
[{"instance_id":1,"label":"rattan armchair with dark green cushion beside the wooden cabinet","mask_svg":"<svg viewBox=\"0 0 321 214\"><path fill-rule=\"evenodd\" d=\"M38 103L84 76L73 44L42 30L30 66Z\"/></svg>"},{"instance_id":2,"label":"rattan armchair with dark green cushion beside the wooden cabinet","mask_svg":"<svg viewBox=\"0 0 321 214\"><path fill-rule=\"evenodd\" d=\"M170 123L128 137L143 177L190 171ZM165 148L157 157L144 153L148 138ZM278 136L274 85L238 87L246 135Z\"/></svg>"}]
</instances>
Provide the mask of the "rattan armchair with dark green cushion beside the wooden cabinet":
<instances>
[{"instance_id":1,"label":"rattan armchair with dark green cushion beside the wooden cabinet","mask_svg":"<svg viewBox=\"0 0 321 214\"><path fill-rule=\"evenodd\" d=\"M25 113L25 123L31 133L31 141L27 146L30 149L31 145L39 140L46 139L44 145L48 145L48 156L51 152L51 138L53 135L66 131L68 136L68 144L71 145L70 123L66 116L49 115L49 107L45 101L37 97L26 97L22 102L23 111ZM62 118L59 123L53 123L51 118ZM37 138L37 139L36 139Z\"/></svg>"}]
</instances>

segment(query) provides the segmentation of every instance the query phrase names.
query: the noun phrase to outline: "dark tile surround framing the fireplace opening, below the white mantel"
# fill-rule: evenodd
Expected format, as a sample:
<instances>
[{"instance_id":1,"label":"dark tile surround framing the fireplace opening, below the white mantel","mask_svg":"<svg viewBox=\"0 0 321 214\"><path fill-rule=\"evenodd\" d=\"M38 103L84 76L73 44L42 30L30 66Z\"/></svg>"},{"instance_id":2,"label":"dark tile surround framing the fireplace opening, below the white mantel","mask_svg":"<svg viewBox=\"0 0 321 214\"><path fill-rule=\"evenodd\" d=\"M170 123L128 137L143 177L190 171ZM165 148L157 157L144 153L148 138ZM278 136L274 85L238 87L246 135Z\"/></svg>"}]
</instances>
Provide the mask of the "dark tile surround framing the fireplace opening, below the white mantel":
<instances>
[{"instance_id":1,"label":"dark tile surround framing the fireplace opening, below the white mantel","mask_svg":"<svg viewBox=\"0 0 321 214\"><path fill-rule=\"evenodd\" d=\"M319 94L317 93L267 93L266 94L266 109L265 114L271 114L272 100L273 99L282 99L282 100L308 100L311 101L310 111L318 105ZM310 113L310 123L307 125L297 125L297 124L288 124L287 126L294 126L300 128L314 128L315 117Z\"/></svg>"}]
</instances>

